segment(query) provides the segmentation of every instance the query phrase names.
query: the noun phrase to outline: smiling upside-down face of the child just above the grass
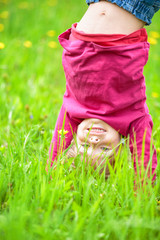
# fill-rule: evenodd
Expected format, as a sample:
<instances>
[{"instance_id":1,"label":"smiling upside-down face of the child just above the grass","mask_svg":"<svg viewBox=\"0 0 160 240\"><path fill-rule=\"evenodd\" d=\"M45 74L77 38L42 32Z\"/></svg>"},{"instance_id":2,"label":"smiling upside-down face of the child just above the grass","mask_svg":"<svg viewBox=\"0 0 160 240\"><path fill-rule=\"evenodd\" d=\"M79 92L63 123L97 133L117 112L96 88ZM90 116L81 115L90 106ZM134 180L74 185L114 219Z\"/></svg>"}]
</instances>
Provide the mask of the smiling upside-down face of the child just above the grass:
<instances>
[{"instance_id":1,"label":"smiling upside-down face of the child just above the grass","mask_svg":"<svg viewBox=\"0 0 160 240\"><path fill-rule=\"evenodd\" d=\"M107 123L99 119L85 119L77 129L77 144L79 153L85 152L88 157L102 160L117 151L121 140L120 134Z\"/></svg>"}]
</instances>

